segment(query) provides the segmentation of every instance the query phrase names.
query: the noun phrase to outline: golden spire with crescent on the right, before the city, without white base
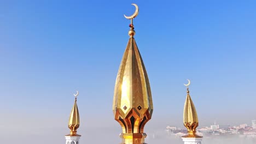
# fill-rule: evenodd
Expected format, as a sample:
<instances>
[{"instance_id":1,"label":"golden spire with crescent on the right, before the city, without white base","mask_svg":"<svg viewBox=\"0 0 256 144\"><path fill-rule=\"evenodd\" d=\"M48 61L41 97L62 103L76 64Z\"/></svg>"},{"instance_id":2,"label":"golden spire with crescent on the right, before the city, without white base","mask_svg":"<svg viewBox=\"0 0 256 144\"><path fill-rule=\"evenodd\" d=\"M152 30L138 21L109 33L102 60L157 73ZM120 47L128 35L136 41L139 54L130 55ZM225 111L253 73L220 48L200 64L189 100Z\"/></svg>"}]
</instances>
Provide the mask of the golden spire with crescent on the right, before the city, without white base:
<instances>
[{"instance_id":1,"label":"golden spire with crescent on the right, before the city, without white base","mask_svg":"<svg viewBox=\"0 0 256 144\"><path fill-rule=\"evenodd\" d=\"M188 80L189 81L189 80ZM184 84L185 85L185 84ZM201 136L196 135L196 128L199 125L195 105L189 94L190 81L187 85L187 98L184 105L183 124L188 129L188 135L183 137L195 137L200 138Z\"/></svg>"}]
</instances>

